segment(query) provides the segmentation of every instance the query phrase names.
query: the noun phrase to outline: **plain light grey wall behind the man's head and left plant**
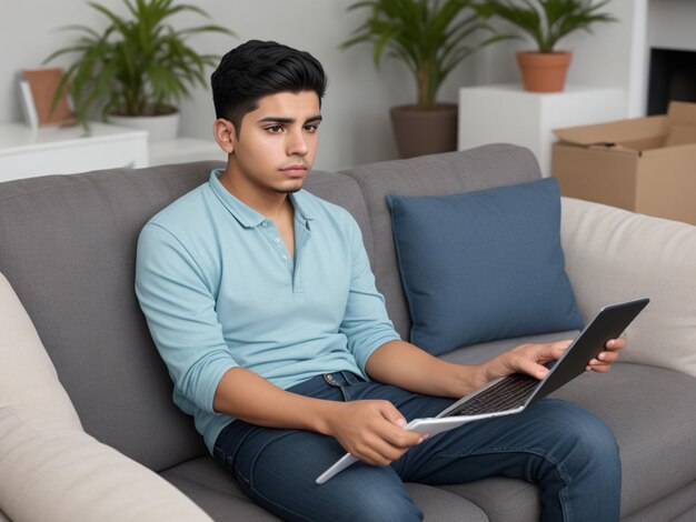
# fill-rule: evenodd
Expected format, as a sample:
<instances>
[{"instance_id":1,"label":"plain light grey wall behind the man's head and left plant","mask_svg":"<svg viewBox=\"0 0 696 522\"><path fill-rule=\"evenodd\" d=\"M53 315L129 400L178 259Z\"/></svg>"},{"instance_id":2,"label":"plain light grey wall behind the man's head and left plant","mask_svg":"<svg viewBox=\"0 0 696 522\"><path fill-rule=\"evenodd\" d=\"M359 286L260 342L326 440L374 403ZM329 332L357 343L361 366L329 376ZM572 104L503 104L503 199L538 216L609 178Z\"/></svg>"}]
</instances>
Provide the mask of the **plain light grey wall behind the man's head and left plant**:
<instances>
[{"instance_id":1,"label":"plain light grey wall behind the man's head and left plant","mask_svg":"<svg viewBox=\"0 0 696 522\"><path fill-rule=\"evenodd\" d=\"M70 33L56 28L70 23L99 30L106 19L83 0L2 1L0 16L0 123L19 121L21 112L14 91L14 73L39 67L54 49L71 41ZM102 4L123 12L121 0ZM321 148L316 167L340 169L396 157L388 108L415 100L412 80L400 63L385 60L377 71L369 46L346 51L338 49L365 13L346 13L352 0L199 0L191 2L208 11L216 23L233 30L238 38L220 34L192 40L201 52L222 54L251 38L274 39L315 54L329 76L324 102ZM200 17L182 14L172 19L181 27L200 23ZM67 62L54 62L66 64ZM455 71L440 92L443 101L456 101L460 84L481 79L473 77L473 66ZM182 107L183 135L211 139L213 109L210 91L197 89Z\"/></svg>"}]
</instances>

